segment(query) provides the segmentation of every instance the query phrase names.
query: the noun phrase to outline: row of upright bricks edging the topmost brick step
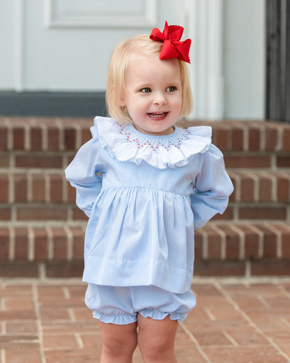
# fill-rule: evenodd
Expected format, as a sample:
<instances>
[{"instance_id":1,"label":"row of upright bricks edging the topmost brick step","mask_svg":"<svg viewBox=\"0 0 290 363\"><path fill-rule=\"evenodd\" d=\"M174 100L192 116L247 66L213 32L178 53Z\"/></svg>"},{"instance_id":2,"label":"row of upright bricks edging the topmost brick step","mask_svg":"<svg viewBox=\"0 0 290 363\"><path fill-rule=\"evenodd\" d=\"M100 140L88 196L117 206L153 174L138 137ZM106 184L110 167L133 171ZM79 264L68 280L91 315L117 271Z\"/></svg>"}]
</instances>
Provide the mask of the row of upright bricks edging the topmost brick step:
<instances>
[{"instance_id":1,"label":"row of upright bricks edging the topmost brick step","mask_svg":"<svg viewBox=\"0 0 290 363\"><path fill-rule=\"evenodd\" d=\"M91 133L92 119L0 117L0 150L67 151L79 149ZM210 125L222 151L290 151L290 125L273 121L182 120L178 126Z\"/></svg>"}]
</instances>

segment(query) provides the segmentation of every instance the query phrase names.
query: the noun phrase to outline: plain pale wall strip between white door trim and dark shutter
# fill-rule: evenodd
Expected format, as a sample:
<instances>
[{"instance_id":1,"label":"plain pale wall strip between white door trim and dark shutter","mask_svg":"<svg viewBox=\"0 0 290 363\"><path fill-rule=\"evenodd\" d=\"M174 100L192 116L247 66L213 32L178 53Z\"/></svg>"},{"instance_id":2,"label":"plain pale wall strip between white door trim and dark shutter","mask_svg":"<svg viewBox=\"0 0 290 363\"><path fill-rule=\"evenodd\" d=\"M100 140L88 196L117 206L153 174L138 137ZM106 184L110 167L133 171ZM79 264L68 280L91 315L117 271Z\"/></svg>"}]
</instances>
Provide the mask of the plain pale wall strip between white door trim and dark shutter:
<instances>
[{"instance_id":1,"label":"plain pale wall strip between white door trim and dark shutter","mask_svg":"<svg viewBox=\"0 0 290 363\"><path fill-rule=\"evenodd\" d=\"M264 119L266 0L224 0L224 116Z\"/></svg>"}]
</instances>

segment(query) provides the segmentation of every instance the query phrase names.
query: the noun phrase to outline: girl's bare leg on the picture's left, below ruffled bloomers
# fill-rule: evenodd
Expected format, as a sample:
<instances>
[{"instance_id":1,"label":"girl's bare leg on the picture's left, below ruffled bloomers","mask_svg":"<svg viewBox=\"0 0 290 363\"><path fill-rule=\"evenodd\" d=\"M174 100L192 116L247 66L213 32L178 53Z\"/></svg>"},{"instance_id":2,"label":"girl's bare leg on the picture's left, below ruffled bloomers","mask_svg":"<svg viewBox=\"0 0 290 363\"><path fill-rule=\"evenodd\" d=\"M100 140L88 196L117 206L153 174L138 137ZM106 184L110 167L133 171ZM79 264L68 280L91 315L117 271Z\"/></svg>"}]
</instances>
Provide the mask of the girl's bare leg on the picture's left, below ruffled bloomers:
<instances>
[{"instance_id":1,"label":"girl's bare leg on the picture's left, below ruffled bloomers","mask_svg":"<svg viewBox=\"0 0 290 363\"><path fill-rule=\"evenodd\" d=\"M132 363L137 346L137 322L128 325L99 322L102 332L100 363Z\"/></svg>"}]
</instances>

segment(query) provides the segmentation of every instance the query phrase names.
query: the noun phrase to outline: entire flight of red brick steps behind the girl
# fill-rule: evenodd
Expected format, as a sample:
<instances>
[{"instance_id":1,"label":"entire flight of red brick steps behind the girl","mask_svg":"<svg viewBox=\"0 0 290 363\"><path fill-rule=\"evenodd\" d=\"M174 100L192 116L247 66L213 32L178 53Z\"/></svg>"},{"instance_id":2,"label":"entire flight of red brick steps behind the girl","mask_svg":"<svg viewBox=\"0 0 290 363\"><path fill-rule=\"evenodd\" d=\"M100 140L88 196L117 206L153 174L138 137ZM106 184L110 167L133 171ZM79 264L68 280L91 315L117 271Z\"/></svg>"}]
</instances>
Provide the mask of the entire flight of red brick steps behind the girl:
<instances>
[{"instance_id":1,"label":"entire flight of red brick steps behind the girl","mask_svg":"<svg viewBox=\"0 0 290 363\"><path fill-rule=\"evenodd\" d=\"M189 121L181 126L192 125ZM235 191L196 232L195 274L290 274L290 126L213 126ZM63 170L90 119L0 117L0 276L81 276L86 216Z\"/></svg>"}]
</instances>

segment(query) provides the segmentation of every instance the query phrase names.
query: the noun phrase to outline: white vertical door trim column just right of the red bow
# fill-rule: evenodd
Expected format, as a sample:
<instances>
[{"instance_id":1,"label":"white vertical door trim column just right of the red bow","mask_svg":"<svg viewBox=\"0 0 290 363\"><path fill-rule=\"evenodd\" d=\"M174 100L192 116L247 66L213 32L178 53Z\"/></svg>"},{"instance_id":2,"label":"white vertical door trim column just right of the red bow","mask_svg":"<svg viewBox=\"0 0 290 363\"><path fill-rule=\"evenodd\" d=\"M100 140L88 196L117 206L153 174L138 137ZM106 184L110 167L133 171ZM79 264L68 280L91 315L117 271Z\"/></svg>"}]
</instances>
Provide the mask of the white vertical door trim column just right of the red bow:
<instances>
[{"instance_id":1,"label":"white vertical door trim column just right of the red bow","mask_svg":"<svg viewBox=\"0 0 290 363\"><path fill-rule=\"evenodd\" d=\"M190 65L195 119L224 117L223 0L185 2L187 34L192 38Z\"/></svg>"}]
</instances>

